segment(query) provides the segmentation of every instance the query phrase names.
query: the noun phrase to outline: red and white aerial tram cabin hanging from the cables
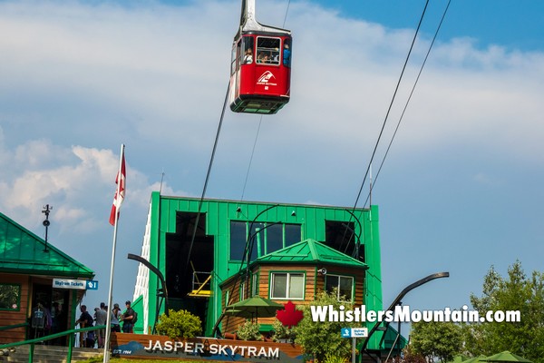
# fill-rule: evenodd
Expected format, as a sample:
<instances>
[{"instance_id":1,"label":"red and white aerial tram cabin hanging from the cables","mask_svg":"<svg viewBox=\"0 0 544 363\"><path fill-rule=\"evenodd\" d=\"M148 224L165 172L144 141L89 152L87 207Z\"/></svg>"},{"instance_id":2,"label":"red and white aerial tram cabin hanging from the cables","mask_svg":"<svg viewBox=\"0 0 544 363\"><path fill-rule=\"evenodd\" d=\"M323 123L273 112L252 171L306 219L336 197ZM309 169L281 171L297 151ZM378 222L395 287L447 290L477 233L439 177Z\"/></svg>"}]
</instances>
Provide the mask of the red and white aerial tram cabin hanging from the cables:
<instances>
[{"instance_id":1,"label":"red and white aerial tram cabin hanging from the cables","mask_svg":"<svg viewBox=\"0 0 544 363\"><path fill-rule=\"evenodd\" d=\"M242 1L232 46L228 101L235 113L277 113L289 102L291 32L255 19L255 0Z\"/></svg>"}]
</instances>

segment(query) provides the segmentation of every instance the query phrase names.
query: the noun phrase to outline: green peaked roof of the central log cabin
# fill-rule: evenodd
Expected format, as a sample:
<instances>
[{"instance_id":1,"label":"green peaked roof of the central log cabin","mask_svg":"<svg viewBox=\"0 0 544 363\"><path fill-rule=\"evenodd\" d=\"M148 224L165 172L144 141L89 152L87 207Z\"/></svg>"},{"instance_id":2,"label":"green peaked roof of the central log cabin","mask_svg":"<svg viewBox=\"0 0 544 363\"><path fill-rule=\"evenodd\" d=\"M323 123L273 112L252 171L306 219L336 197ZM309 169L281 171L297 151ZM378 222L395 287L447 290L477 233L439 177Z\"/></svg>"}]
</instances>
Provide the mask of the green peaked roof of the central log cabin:
<instances>
[{"instance_id":1,"label":"green peaked roof of the central log cabin","mask_svg":"<svg viewBox=\"0 0 544 363\"><path fill-rule=\"evenodd\" d=\"M277 250L261 256L257 259L258 262L267 263L328 263L331 265L363 267L368 269L368 266L359 260L325 246L316 240L308 239L288 246L285 249Z\"/></svg>"}]
</instances>

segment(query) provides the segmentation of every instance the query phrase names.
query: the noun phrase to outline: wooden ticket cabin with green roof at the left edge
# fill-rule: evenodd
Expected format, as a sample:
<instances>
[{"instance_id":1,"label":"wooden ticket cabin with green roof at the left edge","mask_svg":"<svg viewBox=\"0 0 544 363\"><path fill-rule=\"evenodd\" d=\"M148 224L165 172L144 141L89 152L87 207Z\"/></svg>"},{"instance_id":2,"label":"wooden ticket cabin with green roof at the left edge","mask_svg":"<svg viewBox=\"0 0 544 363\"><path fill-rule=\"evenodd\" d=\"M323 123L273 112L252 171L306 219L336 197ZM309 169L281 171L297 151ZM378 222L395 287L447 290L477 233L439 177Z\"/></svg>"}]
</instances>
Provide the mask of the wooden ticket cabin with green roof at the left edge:
<instances>
[{"instance_id":1,"label":"wooden ticket cabin with green roof at the left edge","mask_svg":"<svg viewBox=\"0 0 544 363\"><path fill-rule=\"evenodd\" d=\"M0 344L73 329L84 282L93 277L92 270L0 213ZM83 289L55 287L53 280L82 281ZM63 345L65 338L47 344Z\"/></svg>"}]
</instances>

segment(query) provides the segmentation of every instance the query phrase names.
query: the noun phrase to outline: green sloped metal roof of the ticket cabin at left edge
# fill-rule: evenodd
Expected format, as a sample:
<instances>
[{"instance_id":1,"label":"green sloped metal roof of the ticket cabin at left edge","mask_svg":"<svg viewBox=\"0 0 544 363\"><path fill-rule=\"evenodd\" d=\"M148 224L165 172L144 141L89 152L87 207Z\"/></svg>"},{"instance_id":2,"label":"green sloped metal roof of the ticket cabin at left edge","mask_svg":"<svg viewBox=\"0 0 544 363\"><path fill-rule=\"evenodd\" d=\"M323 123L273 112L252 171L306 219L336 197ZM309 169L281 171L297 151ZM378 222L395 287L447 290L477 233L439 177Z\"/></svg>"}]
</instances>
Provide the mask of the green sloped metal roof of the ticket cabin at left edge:
<instances>
[{"instance_id":1,"label":"green sloped metal roof of the ticket cabin at left edge","mask_svg":"<svg viewBox=\"0 0 544 363\"><path fill-rule=\"evenodd\" d=\"M0 213L0 271L92 279L94 271Z\"/></svg>"}]
</instances>

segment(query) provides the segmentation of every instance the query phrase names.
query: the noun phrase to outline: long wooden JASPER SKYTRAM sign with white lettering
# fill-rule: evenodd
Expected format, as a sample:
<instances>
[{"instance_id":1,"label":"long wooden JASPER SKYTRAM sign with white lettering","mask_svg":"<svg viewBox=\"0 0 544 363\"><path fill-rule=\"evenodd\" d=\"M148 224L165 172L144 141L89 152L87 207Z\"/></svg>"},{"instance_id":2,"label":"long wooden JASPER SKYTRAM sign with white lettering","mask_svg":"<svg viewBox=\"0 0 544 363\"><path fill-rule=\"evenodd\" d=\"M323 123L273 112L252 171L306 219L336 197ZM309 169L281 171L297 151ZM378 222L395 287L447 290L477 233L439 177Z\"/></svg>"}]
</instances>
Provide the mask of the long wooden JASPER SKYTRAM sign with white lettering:
<instances>
[{"instance_id":1,"label":"long wooden JASPER SKYTRAM sign with white lettering","mask_svg":"<svg viewBox=\"0 0 544 363\"><path fill-rule=\"evenodd\" d=\"M219 360L239 362L302 362L302 349L294 344L164 336L112 334L112 354L126 358Z\"/></svg>"}]
</instances>

